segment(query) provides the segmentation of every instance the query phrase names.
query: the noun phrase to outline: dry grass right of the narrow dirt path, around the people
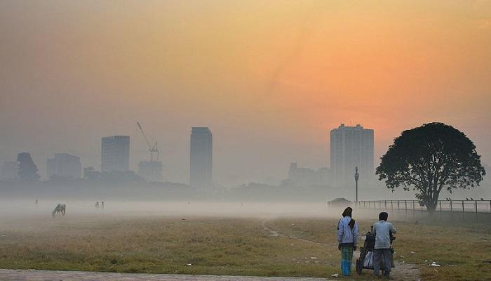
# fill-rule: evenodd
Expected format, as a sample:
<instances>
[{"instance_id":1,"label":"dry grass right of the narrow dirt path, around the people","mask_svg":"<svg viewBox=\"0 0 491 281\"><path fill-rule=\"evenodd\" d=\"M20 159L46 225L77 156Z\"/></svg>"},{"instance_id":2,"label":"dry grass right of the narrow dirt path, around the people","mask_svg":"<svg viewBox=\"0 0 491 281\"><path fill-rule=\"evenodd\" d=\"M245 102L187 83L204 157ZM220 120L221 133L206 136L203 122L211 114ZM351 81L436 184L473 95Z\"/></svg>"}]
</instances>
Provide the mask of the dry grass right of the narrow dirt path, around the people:
<instances>
[{"instance_id":1,"label":"dry grass right of the narrow dirt path, around the people","mask_svg":"<svg viewBox=\"0 0 491 281\"><path fill-rule=\"evenodd\" d=\"M363 233L370 221L359 221ZM335 241L337 221L280 219L269 223L288 235L321 243ZM422 280L491 280L491 231L489 226L430 226L395 222L398 230L394 258L421 270ZM336 255L334 255L336 256ZM440 267L429 264L436 261ZM394 270L397 270L395 268Z\"/></svg>"}]
</instances>

